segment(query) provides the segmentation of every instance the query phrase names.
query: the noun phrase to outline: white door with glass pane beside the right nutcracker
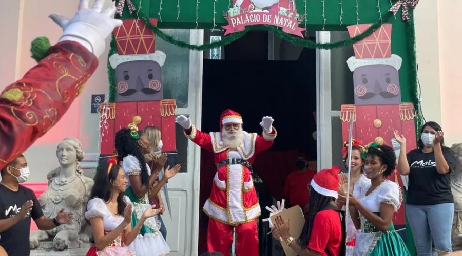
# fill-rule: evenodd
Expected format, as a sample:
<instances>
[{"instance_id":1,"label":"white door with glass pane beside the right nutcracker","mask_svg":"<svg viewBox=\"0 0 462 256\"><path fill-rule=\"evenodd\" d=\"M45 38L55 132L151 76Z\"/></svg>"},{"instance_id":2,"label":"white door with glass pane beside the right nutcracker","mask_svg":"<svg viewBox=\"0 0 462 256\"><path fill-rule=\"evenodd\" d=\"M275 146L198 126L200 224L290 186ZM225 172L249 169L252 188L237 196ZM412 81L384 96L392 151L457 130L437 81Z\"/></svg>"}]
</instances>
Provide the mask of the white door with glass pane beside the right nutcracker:
<instances>
[{"instance_id":1,"label":"white door with glass pane beside the right nutcracker","mask_svg":"<svg viewBox=\"0 0 462 256\"><path fill-rule=\"evenodd\" d=\"M316 38L318 42L328 43L347 39L349 35L348 32L317 32ZM352 46L316 51L318 170L342 164L340 106L354 104L353 73L347 66L351 56L354 56Z\"/></svg>"}]
</instances>

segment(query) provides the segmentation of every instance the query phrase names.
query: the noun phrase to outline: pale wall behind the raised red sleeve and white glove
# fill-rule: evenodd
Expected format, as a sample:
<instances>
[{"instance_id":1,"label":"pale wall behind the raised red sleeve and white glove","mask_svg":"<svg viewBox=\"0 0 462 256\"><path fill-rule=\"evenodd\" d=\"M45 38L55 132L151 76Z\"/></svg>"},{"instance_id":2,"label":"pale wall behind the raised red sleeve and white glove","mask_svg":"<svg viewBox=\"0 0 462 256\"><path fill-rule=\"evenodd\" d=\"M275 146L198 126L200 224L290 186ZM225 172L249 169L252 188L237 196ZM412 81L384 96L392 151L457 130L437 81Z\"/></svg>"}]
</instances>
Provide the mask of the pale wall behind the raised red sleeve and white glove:
<instances>
[{"instance_id":1,"label":"pale wall behind the raised red sleeve and white glove","mask_svg":"<svg viewBox=\"0 0 462 256\"><path fill-rule=\"evenodd\" d=\"M93 1L90 2L92 4ZM35 60L30 57L30 42L34 38L47 36L51 44L54 44L61 36L62 29L48 15L59 13L71 18L78 4L79 0L2 1L0 24L3 25L0 26L0 34L8 40L0 40L0 49L4 54L3 61L0 61L0 89L20 79L35 65ZM111 0L105 0L105 6L111 4ZM109 46L109 40L106 45ZM106 94L107 97L106 63L107 49L100 57L97 71L69 111L53 129L25 152L31 168L30 181L46 181L46 173L58 164L56 145L65 137L80 139L87 153L99 152L98 114L90 114L90 101L91 94Z\"/></svg>"}]
</instances>

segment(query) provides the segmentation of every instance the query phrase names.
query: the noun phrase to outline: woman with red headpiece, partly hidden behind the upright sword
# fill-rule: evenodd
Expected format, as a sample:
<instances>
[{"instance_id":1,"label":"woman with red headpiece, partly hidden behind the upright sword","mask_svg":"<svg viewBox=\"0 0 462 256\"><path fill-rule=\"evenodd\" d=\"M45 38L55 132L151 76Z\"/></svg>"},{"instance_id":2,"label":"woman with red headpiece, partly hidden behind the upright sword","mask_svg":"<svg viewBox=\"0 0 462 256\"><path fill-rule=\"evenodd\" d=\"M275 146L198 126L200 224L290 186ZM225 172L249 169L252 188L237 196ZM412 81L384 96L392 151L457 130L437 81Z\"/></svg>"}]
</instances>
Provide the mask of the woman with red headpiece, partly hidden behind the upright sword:
<instances>
[{"instance_id":1,"label":"woman with red headpiece, partly hidden behind the upright sword","mask_svg":"<svg viewBox=\"0 0 462 256\"><path fill-rule=\"evenodd\" d=\"M366 178L363 173L364 160L361 157L363 146L360 140L353 140L351 147L351 174L350 174L350 189L353 189L353 196L356 198L363 193L364 189L368 189L371 186L371 180ZM342 153L345 160L345 165L348 165L348 142L343 143ZM348 166L347 166L348 167ZM344 191L347 190L347 174L340 173L340 179L344 187ZM339 207L340 208L340 207ZM343 206L344 208L344 206ZM353 251L356 244L356 234L360 230L356 229L351 216L347 217L347 256L353 256Z\"/></svg>"}]
</instances>

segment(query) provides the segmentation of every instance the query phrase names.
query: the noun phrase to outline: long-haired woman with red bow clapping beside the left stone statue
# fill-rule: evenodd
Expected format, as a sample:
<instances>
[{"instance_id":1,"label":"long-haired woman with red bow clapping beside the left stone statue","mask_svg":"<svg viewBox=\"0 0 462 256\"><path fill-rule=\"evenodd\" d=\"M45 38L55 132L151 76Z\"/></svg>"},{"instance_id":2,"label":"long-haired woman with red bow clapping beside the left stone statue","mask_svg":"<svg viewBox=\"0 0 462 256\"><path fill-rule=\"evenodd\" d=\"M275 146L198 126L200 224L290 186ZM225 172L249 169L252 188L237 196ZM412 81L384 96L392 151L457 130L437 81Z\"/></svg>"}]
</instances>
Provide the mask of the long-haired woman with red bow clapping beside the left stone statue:
<instances>
[{"instance_id":1,"label":"long-haired woman with red bow clapping beside the left stone statue","mask_svg":"<svg viewBox=\"0 0 462 256\"><path fill-rule=\"evenodd\" d=\"M128 180L117 159L109 158L108 168L100 169L95 177L85 218L91 223L95 246L87 256L135 255L127 247L137 237L144 221L159 214L155 207L147 208L136 226L131 228L132 204L124 195Z\"/></svg>"}]
</instances>

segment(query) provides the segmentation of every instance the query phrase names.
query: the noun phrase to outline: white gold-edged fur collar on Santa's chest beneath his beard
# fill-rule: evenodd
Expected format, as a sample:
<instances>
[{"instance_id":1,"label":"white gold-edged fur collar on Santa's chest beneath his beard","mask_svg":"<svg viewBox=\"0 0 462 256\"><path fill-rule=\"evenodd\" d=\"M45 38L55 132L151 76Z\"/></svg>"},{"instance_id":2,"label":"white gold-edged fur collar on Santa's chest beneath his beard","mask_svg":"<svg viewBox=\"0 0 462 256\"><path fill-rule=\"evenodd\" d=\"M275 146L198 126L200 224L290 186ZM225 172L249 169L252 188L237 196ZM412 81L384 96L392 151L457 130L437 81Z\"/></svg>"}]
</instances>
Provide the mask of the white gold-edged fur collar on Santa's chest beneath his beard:
<instances>
[{"instance_id":1,"label":"white gold-edged fur collar on Santa's chest beneath his beard","mask_svg":"<svg viewBox=\"0 0 462 256\"><path fill-rule=\"evenodd\" d=\"M244 160L248 160L254 156L255 153L255 142L257 140L256 133L247 133L243 132L244 134L244 141L240 147L237 148L237 151L240 153L240 156ZM212 147L214 148L214 153L220 153L225 150L228 150L228 146L223 146L223 143L220 144L221 141L221 133L220 132L211 132L210 139Z\"/></svg>"}]
</instances>

